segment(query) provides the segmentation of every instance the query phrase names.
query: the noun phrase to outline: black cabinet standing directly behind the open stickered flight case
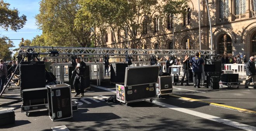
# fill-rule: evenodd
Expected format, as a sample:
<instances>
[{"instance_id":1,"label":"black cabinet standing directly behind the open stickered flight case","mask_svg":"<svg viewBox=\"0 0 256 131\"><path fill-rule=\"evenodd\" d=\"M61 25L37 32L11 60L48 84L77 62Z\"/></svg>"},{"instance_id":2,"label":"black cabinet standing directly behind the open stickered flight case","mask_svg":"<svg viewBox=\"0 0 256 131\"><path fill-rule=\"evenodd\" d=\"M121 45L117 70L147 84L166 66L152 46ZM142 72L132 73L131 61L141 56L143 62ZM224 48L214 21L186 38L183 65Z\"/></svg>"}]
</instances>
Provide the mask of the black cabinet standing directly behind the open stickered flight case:
<instances>
[{"instance_id":1,"label":"black cabinet standing directly behind the open stickered flight case","mask_svg":"<svg viewBox=\"0 0 256 131\"><path fill-rule=\"evenodd\" d=\"M125 68L128 67L127 63L112 63L110 82L124 83L125 82Z\"/></svg>"}]
</instances>

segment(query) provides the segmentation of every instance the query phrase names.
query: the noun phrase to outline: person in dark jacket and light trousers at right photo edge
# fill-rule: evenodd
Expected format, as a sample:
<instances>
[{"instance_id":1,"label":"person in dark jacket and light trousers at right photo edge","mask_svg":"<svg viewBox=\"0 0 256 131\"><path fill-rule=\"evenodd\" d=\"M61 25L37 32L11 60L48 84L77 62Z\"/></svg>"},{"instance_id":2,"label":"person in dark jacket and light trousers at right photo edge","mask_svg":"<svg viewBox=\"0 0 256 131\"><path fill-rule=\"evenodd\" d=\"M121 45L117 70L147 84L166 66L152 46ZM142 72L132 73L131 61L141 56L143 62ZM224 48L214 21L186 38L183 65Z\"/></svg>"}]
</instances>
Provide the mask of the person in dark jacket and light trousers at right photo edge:
<instances>
[{"instance_id":1,"label":"person in dark jacket and light trousers at right photo edge","mask_svg":"<svg viewBox=\"0 0 256 131\"><path fill-rule=\"evenodd\" d=\"M245 87L248 88L248 83L253 79L254 88L256 88L256 68L255 68L255 57L251 56L250 60L246 63L246 82Z\"/></svg>"}]
</instances>

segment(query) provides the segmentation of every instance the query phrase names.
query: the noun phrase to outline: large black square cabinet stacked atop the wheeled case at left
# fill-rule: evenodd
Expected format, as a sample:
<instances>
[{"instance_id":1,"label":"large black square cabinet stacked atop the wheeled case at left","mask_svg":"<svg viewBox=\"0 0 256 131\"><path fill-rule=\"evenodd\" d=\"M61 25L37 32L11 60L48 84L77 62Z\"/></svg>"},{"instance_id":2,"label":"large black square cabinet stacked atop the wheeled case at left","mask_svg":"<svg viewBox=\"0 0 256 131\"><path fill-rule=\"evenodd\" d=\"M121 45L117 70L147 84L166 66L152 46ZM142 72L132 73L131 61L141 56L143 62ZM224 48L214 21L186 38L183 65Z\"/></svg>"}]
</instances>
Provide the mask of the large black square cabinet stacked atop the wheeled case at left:
<instances>
[{"instance_id":1,"label":"large black square cabinet stacked atop the wheeled case at left","mask_svg":"<svg viewBox=\"0 0 256 131\"><path fill-rule=\"evenodd\" d=\"M45 64L42 61L21 62L20 87L23 89L45 87Z\"/></svg>"}]
</instances>

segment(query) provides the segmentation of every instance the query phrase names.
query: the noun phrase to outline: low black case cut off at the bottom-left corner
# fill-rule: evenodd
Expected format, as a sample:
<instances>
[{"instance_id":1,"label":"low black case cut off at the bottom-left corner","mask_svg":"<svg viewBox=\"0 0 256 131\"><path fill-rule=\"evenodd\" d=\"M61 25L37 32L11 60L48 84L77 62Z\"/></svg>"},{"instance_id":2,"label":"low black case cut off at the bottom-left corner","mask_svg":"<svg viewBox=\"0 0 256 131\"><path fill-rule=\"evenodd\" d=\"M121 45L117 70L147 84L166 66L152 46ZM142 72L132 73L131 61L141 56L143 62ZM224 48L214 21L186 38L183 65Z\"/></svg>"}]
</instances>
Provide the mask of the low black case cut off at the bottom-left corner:
<instances>
[{"instance_id":1,"label":"low black case cut off at the bottom-left corner","mask_svg":"<svg viewBox=\"0 0 256 131\"><path fill-rule=\"evenodd\" d=\"M15 114L13 109L3 109L0 111L0 126L15 123Z\"/></svg>"}]
</instances>

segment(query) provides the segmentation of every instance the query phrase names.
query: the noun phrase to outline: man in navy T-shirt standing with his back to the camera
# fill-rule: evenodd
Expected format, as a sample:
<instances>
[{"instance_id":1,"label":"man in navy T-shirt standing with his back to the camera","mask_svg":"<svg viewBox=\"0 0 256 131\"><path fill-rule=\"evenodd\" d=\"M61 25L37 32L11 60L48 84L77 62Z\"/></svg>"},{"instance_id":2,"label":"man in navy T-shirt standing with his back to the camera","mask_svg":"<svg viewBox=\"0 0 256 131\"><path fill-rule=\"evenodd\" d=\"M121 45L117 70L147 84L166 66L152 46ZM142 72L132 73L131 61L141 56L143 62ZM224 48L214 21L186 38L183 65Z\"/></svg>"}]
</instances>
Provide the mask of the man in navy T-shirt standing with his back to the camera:
<instances>
[{"instance_id":1,"label":"man in navy T-shirt standing with his back to the camera","mask_svg":"<svg viewBox=\"0 0 256 131\"><path fill-rule=\"evenodd\" d=\"M190 60L190 66L192 66L193 72L193 82L194 87L200 88L200 81L202 77L202 65L204 65L204 60L199 57L199 53L195 53L195 57Z\"/></svg>"}]
</instances>

